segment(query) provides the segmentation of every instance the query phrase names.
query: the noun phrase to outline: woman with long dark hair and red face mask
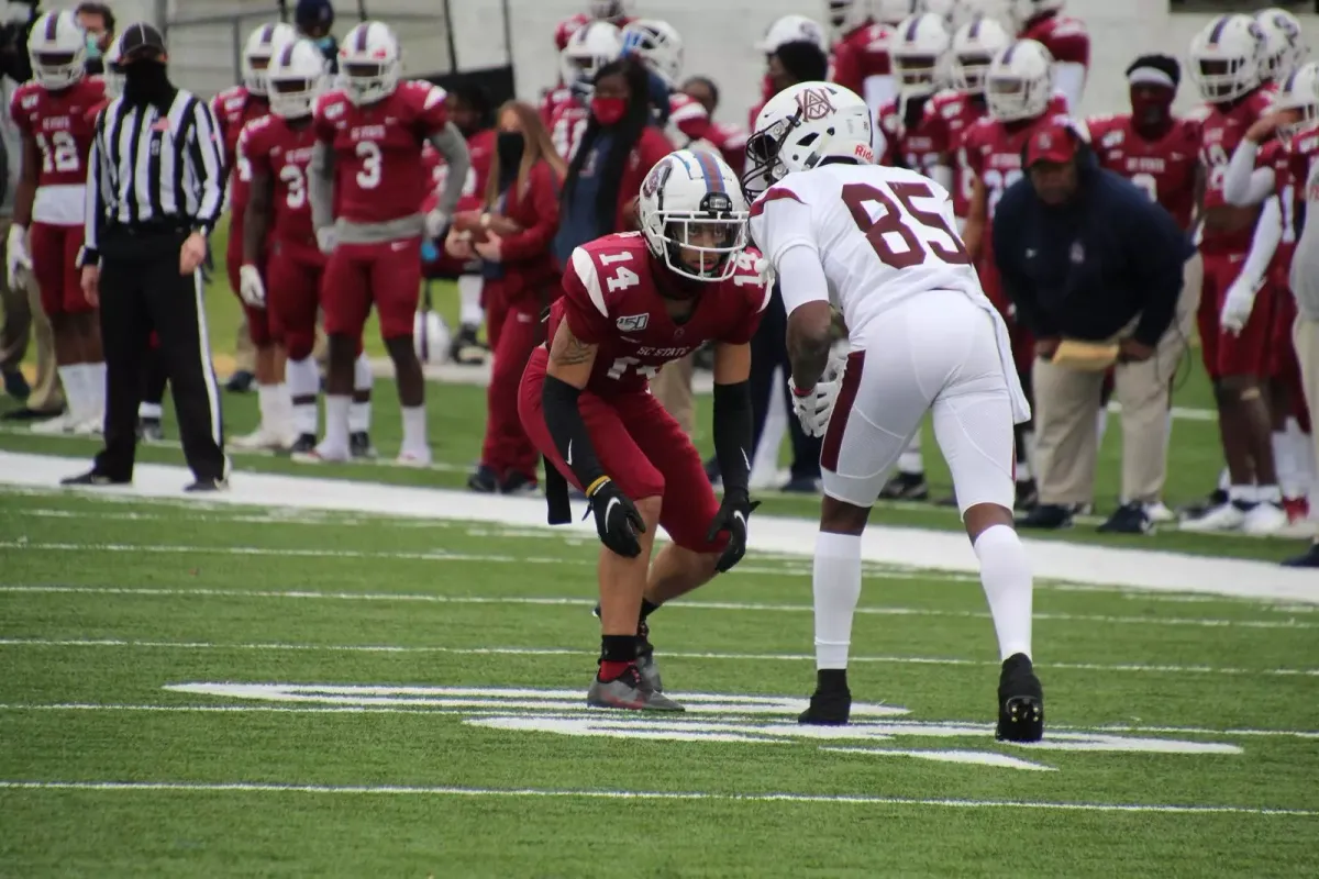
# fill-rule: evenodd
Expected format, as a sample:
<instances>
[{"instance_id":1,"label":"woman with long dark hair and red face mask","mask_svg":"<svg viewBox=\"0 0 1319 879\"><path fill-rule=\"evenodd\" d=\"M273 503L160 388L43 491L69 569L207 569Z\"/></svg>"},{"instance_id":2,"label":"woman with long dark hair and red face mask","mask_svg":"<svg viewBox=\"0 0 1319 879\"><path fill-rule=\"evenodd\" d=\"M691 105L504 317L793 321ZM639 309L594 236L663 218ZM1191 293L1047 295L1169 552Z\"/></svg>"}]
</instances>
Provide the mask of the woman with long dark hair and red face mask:
<instances>
[{"instance_id":1,"label":"woman with long dark hair and red face mask","mask_svg":"<svg viewBox=\"0 0 1319 879\"><path fill-rule=\"evenodd\" d=\"M600 67L591 116L563 181L553 246L561 269L575 248L637 228L641 182L671 152L673 145L654 127L646 69L632 58Z\"/></svg>"}]
</instances>

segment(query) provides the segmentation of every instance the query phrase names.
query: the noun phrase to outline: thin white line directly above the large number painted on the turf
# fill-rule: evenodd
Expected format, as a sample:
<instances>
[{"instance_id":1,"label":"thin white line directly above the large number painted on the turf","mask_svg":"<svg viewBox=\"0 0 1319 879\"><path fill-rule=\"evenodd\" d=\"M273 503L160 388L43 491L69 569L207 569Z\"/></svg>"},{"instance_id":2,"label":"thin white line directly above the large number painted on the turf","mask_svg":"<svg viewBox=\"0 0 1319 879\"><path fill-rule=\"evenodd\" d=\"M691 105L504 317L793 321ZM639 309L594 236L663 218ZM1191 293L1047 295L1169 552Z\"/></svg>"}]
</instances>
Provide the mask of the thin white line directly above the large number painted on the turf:
<instances>
[{"instance_id":1,"label":"thin white line directly above the large number painted on the turf","mask_svg":"<svg viewBox=\"0 0 1319 879\"><path fill-rule=\"evenodd\" d=\"M129 650L235 650L256 652L338 652L338 654L447 654L455 656L598 656L598 652L571 647L443 647L439 644L295 644L218 643L208 640L127 640L119 638L0 638L0 647L104 647ZM733 654L663 651L665 659L714 659L744 662L814 663L814 654ZM998 668L1001 663L948 656L852 656L852 663L886 666L972 666ZM1153 675L1268 675L1278 677L1319 677L1319 668L1220 668L1215 666L1142 666L1103 663L1049 663L1050 669L1136 672Z\"/></svg>"}]
</instances>

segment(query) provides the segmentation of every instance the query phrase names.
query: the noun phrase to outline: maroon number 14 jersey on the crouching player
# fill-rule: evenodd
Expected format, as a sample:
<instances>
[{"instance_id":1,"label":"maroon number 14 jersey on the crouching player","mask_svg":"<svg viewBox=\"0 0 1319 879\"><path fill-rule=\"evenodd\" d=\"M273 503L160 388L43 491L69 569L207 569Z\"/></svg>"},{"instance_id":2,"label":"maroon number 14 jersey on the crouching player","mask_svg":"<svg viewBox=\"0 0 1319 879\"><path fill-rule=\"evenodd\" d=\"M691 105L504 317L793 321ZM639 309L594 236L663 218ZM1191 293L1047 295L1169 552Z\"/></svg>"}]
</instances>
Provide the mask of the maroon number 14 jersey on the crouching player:
<instances>
[{"instance_id":1,"label":"maroon number 14 jersey on the crouching player","mask_svg":"<svg viewBox=\"0 0 1319 879\"><path fill-rule=\"evenodd\" d=\"M657 277L666 269L641 233L596 239L568 260L563 297L550 308L549 337L567 320L574 336L599 347L586 390L601 397L644 391L661 366L707 341L751 341L769 304L769 289L754 268L758 258L748 249L732 278L702 285L691 318L675 323L657 289L675 279Z\"/></svg>"}]
</instances>

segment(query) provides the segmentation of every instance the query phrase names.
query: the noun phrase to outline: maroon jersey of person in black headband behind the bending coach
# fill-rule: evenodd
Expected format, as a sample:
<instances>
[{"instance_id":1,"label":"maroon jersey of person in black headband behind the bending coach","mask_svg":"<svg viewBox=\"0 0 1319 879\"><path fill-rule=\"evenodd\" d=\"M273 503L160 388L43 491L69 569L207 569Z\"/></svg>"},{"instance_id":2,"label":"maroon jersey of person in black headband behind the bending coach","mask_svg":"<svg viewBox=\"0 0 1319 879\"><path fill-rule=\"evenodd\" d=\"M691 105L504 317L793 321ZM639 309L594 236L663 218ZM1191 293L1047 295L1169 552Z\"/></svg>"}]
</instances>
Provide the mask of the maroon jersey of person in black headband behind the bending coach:
<instances>
[{"instance_id":1,"label":"maroon jersey of person in black headband behind the bending coach","mask_svg":"<svg viewBox=\"0 0 1319 879\"><path fill-rule=\"evenodd\" d=\"M1183 229L1191 225L1200 152L1198 121L1174 119L1163 137L1154 141L1140 134L1130 113L1096 116L1087 120L1086 128L1100 167L1149 192Z\"/></svg>"}]
</instances>

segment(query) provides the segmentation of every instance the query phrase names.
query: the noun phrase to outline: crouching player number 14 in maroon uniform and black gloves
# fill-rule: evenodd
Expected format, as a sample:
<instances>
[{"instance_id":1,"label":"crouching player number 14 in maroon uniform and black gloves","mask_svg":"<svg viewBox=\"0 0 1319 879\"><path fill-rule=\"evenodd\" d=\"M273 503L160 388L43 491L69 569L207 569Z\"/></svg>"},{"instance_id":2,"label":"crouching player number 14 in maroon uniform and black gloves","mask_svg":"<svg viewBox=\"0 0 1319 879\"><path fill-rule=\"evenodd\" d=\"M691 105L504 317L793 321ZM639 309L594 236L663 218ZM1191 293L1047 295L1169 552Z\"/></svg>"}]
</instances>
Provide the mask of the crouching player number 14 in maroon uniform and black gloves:
<instances>
[{"instance_id":1,"label":"crouching player number 14 in maroon uniform and black gloves","mask_svg":"<svg viewBox=\"0 0 1319 879\"><path fill-rule=\"evenodd\" d=\"M568 519L567 478L590 498L604 544L592 706L682 710L661 692L646 617L747 550L749 343L769 302L758 254L745 249L747 217L737 178L718 157L682 150L661 159L641 190L642 232L572 252L550 310L549 351L532 354L522 378L522 424L549 461L550 521ZM648 393L665 364L706 341L716 344L723 503L695 447ZM652 563L658 526L673 543Z\"/></svg>"}]
</instances>

